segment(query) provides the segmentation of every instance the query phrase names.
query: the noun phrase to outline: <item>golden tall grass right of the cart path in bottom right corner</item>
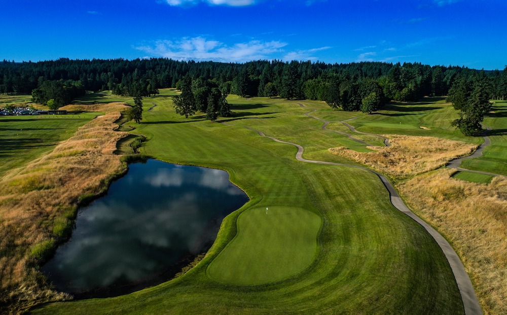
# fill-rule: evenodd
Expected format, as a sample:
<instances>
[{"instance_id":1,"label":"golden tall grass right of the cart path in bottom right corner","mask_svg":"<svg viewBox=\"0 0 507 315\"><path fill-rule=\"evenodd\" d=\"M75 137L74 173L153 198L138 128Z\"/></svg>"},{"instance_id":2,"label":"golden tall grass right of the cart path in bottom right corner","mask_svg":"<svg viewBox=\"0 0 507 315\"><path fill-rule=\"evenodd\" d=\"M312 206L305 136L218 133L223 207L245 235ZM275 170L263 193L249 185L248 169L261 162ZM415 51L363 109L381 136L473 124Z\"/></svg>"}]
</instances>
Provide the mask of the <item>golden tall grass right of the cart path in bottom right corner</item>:
<instances>
[{"instance_id":1,"label":"golden tall grass right of the cart path in bottom right corner","mask_svg":"<svg viewBox=\"0 0 507 315\"><path fill-rule=\"evenodd\" d=\"M507 314L507 179L476 184L441 169L398 185L414 212L452 243L486 314Z\"/></svg>"}]
</instances>

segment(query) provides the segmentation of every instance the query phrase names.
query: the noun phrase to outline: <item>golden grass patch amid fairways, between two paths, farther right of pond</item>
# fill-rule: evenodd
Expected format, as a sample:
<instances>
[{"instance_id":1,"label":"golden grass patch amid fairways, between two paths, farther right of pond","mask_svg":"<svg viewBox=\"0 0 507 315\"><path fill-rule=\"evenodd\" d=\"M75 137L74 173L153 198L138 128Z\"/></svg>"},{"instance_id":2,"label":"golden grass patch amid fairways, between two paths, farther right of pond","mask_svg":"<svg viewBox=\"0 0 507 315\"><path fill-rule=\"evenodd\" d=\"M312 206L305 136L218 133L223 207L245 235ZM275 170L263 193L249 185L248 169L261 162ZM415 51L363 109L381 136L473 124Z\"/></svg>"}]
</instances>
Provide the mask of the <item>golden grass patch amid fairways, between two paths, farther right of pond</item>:
<instances>
[{"instance_id":1,"label":"golden grass patch amid fairways, between two paths, farther right of pond","mask_svg":"<svg viewBox=\"0 0 507 315\"><path fill-rule=\"evenodd\" d=\"M394 178L406 178L437 169L450 160L474 152L477 145L436 137L384 135L390 147L368 147L374 152L331 148L333 154L369 165Z\"/></svg>"}]
</instances>

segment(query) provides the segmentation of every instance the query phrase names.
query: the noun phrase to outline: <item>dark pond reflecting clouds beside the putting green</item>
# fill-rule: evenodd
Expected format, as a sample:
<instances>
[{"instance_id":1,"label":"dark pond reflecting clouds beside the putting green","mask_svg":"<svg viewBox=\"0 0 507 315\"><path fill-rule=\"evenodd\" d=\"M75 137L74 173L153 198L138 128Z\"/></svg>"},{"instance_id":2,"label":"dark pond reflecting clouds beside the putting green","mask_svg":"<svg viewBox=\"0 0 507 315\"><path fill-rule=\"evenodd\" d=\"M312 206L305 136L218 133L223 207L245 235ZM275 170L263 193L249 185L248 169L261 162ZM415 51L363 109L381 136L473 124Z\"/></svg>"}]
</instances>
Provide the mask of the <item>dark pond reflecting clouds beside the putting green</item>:
<instances>
[{"instance_id":1,"label":"dark pond reflecting clouds beside the putting green","mask_svg":"<svg viewBox=\"0 0 507 315\"><path fill-rule=\"evenodd\" d=\"M68 242L43 266L76 297L125 294L166 281L213 243L248 201L223 170L148 160L80 209Z\"/></svg>"}]
</instances>

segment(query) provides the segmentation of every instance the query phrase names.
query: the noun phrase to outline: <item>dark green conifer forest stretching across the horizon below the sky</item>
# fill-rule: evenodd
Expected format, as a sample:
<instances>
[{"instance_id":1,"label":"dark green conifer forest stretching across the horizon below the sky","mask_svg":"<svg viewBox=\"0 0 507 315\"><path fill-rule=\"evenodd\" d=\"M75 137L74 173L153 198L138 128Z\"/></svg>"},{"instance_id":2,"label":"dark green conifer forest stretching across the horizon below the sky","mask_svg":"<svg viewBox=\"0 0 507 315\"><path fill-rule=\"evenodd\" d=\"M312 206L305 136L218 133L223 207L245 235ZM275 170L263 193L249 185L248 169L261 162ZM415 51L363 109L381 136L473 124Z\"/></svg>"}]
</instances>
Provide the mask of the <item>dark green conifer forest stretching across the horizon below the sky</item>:
<instances>
[{"instance_id":1,"label":"dark green conifer forest stretching across the horizon below the sky","mask_svg":"<svg viewBox=\"0 0 507 315\"><path fill-rule=\"evenodd\" d=\"M54 99L58 106L87 90L111 90L139 99L157 94L159 88L182 89L182 85L192 90L192 106L204 113L210 98L215 111L221 95L229 93L322 100L332 108L368 113L391 100L448 95L460 110L455 125L472 134L480 129L482 116L489 110L488 100L507 96L507 67L503 71L478 71L417 62L221 63L166 58L0 62L0 93L31 94L34 102L43 104Z\"/></svg>"}]
</instances>

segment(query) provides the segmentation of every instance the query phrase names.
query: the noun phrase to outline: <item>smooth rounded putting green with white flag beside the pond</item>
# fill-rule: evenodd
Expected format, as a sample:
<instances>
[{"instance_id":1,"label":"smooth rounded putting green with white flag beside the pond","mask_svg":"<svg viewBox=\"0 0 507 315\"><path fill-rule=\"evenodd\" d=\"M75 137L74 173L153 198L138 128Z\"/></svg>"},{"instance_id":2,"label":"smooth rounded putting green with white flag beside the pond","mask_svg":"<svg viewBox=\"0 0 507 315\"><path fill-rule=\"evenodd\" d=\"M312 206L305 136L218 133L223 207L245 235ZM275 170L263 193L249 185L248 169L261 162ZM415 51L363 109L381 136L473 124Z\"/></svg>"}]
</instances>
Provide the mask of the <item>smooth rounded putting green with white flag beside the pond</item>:
<instances>
[{"instance_id":1,"label":"smooth rounded putting green with white flag beside the pond","mask_svg":"<svg viewBox=\"0 0 507 315\"><path fill-rule=\"evenodd\" d=\"M248 209L238 218L238 234L209 264L208 274L220 282L257 285L299 273L315 259L321 222L302 208Z\"/></svg>"}]
</instances>

